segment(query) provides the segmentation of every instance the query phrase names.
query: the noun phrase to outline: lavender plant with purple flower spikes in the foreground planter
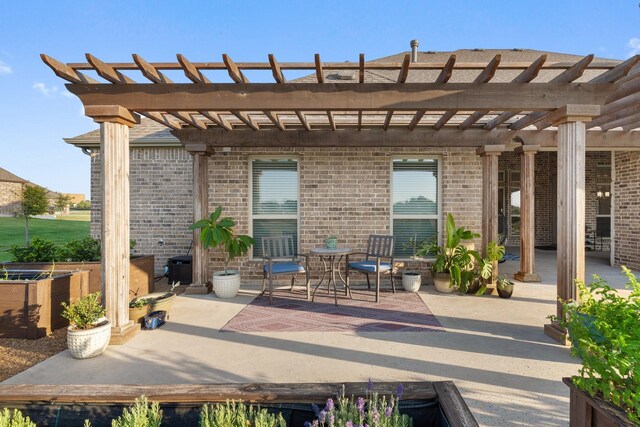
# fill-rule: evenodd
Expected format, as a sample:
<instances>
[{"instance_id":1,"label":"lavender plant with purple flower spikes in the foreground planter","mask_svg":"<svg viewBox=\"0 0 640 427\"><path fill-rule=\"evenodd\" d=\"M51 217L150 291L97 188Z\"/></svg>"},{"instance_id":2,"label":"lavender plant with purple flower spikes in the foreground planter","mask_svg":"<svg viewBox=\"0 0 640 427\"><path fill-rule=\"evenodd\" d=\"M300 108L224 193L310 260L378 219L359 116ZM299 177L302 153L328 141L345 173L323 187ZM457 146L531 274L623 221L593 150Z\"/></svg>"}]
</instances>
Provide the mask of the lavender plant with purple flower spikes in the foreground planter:
<instances>
[{"instance_id":1,"label":"lavender plant with purple flower spikes in the foreground planter","mask_svg":"<svg viewBox=\"0 0 640 427\"><path fill-rule=\"evenodd\" d=\"M316 419L307 421L305 427L412 427L413 420L398 410L403 390L400 384L395 396L380 396L373 391L373 383L369 380L365 397L355 399L345 396L343 386L337 396L337 405L331 398L323 409L313 405Z\"/></svg>"}]
</instances>

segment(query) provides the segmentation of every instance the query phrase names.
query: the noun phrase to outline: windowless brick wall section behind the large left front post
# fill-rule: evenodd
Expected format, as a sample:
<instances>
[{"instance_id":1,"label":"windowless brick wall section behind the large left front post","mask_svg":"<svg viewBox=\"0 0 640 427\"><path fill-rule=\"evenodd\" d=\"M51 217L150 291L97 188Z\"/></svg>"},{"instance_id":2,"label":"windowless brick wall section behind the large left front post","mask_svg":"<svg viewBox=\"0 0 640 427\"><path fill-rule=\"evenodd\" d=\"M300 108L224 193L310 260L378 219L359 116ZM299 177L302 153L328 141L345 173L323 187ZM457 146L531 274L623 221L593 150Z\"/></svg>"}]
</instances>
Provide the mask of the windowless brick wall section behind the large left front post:
<instances>
[{"instance_id":1,"label":"windowless brick wall section behind the large left front post","mask_svg":"<svg viewBox=\"0 0 640 427\"><path fill-rule=\"evenodd\" d=\"M184 255L192 233L191 156L181 148L134 148L130 153L131 239L135 253L155 255L161 274L167 259ZM100 156L91 159L91 235L100 238ZM160 240L164 245L160 245Z\"/></svg>"}]
</instances>

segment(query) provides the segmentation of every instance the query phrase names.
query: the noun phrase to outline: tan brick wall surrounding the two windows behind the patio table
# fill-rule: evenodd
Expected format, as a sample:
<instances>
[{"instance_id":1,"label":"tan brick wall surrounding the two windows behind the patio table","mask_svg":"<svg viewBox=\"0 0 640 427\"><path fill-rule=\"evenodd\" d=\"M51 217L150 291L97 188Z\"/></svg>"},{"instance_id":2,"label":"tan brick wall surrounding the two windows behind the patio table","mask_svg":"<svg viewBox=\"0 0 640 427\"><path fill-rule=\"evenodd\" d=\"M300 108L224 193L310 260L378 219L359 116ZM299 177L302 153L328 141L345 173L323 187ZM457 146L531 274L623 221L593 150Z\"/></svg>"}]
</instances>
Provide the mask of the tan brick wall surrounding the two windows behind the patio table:
<instances>
[{"instance_id":1,"label":"tan brick wall surrounding the two windows behind the patio table","mask_svg":"<svg viewBox=\"0 0 640 427\"><path fill-rule=\"evenodd\" d=\"M482 228L482 166L473 149L402 150L378 148L254 149L216 153L209 160L209 208L218 205L233 216L238 231L249 230L249 158L292 155L299 159L300 249L322 246L330 234L340 244L364 250L369 234L390 231L392 155L440 156L442 159L442 212L451 212L457 225L480 232ZM444 222L442 222L444 229ZM479 244L479 242L477 242ZM318 271L317 259L312 270ZM258 263L232 261L247 280L260 278ZM426 265L425 265L426 267ZM210 272L222 268L211 254Z\"/></svg>"}]
</instances>

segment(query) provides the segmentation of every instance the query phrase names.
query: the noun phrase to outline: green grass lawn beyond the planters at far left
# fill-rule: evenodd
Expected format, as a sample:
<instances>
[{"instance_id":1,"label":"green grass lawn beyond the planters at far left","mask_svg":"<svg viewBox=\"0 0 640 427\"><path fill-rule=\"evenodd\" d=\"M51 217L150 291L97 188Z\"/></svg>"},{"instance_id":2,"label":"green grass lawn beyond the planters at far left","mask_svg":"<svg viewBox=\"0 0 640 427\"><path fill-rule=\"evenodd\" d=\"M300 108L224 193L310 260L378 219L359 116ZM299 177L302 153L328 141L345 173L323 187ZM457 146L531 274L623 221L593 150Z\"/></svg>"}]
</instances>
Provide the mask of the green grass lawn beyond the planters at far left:
<instances>
[{"instance_id":1,"label":"green grass lawn beyond the planters at far left","mask_svg":"<svg viewBox=\"0 0 640 427\"><path fill-rule=\"evenodd\" d=\"M40 237L60 244L89 236L89 221L29 220L29 238ZM0 217L0 261L10 261L9 248L24 245L24 218Z\"/></svg>"}]
</instances>

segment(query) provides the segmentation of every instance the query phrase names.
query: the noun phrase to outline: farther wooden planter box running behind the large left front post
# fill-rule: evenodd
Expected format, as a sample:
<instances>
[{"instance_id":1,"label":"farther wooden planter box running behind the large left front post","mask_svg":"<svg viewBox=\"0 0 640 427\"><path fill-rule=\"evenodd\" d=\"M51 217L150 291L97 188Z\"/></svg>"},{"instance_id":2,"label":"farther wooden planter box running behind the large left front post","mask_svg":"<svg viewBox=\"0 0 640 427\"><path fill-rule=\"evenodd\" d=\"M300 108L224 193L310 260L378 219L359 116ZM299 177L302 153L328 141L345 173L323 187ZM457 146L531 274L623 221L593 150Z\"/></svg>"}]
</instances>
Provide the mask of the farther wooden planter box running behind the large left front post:
<instances>
[{"instance_id":1,"label":"farther wooden planter box running behind the large left front post","mask_svg":"<svg viewBox=\"0 0 640 427\"><path fill-rule=\"evenodd\" d=\"M143 296L154 291L153 287L153 255L134 255L131 257L129 273L129 287L132 291ZM2 265L7 270L86 270L89 272L89 292L98 292L102 287L100 277L100 261L89 262L56 262L53 266L49 262L8 262ZM129 300L134 298L129 294Z\"/></svg>"}]
</instances>

